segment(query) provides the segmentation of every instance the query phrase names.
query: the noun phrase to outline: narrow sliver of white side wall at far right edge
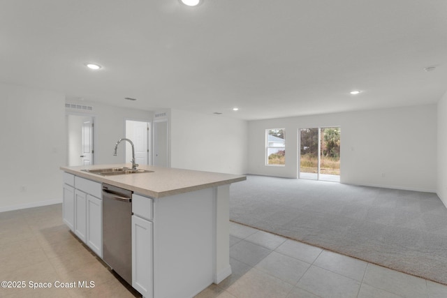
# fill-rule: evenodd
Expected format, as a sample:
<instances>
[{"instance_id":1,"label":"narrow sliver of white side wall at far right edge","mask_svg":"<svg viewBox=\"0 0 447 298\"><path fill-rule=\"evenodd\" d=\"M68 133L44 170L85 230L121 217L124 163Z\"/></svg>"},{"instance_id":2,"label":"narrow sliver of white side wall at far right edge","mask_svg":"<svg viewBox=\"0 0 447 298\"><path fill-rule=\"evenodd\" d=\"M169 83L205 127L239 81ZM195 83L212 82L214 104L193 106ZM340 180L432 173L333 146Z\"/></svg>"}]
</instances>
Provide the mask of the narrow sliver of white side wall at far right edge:
<instances>
[{"instance_id":1,"label":"narrow sliver of white side wall at far right edge","mask_svg":"<svg viewBox=\"0 0 447 298\"><path fill-rule=\"evenodd\" d=\"M437 194L447 207L447 92L438 103Z\"/></svg>"}]
</instances>

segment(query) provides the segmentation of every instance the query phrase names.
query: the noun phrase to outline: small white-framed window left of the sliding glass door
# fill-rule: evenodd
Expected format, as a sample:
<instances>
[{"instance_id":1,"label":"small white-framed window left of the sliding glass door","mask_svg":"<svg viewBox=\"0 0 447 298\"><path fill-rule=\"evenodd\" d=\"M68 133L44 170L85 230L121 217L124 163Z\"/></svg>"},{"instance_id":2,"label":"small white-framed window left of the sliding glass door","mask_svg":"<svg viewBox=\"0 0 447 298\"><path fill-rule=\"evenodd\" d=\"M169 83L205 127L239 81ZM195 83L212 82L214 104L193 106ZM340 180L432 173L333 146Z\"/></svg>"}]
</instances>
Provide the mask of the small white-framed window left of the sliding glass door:
<instances>
[{"instance_id":1,"label":"small white-framed window left of the sliding glass door","mask_svg":"<svg viewBox=\"0 0 447 298\"><path fill-rule=\"evenodd\" d=\"M265 131L267 140L267 165L286 165L286 138L284 128L274 128Z\"/></svg>"}]
</instances>

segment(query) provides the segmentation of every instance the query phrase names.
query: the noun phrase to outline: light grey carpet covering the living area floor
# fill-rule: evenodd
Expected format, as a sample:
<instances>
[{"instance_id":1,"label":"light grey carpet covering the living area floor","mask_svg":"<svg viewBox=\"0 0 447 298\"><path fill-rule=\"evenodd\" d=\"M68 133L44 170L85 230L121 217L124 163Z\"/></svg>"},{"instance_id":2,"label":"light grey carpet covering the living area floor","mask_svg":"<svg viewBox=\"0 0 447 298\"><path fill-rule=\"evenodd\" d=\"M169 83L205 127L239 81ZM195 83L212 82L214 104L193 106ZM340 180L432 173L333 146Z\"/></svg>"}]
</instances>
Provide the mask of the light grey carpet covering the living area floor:
<instances>
[{"instance_id":1,"label":"light grey carpet covering the living area floor","mask_svg":"<svg viewBox=\"0 0 447 298\"><path fill-rule=\"evenodd\" d=\"M248 176L230 220L447 285L447 209L435 193Z\"/></svg>"}]
</instances>

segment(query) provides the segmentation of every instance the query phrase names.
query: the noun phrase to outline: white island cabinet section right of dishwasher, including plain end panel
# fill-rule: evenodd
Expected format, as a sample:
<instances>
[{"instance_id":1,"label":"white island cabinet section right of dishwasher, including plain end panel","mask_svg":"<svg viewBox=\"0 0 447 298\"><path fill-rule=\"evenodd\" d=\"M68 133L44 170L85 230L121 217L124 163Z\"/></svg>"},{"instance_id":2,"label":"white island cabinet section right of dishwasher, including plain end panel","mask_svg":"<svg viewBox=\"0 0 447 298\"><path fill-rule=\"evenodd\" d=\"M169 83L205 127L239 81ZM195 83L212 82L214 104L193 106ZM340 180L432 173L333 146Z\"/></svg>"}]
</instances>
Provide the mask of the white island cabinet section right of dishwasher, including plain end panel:
<instances>
[{"instance_id":1,"label":"white island cabinet section right of dishwasher, including plain end panel","mask_svg":"<svg viewBox=\"0 0 447 298\"><path fill-rule=\"evenodd\" d=\"M194 297L212 284L213 194L132 195L132 286L144 297Z\"/></svg>"}]
</instances>

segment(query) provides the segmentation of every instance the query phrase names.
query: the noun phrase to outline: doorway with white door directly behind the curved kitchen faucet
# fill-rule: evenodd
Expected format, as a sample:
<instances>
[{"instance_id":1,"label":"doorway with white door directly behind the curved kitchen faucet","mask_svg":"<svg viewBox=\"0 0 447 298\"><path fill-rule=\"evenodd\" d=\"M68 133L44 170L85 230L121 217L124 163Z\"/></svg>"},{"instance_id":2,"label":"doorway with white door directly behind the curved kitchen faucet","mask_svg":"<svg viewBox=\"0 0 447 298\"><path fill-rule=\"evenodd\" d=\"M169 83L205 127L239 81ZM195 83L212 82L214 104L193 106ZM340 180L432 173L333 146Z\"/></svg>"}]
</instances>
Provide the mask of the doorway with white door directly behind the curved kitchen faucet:
<instances>
[{"instance_id":1,"label":"doorway with white door directly behind the curved kitchen faucet","mask_svg":"<svg viewBox=\"0 0 447 298\"><path fill-rule=\"evenodd\" d=\"M151 124L146 121L126 120L126 138L133 142L135 147L135 163L138 165L152 165L151 138L149 137ZM132 147L126 142L126 162L132 160Z\"/></svg>"}]
</instances>

